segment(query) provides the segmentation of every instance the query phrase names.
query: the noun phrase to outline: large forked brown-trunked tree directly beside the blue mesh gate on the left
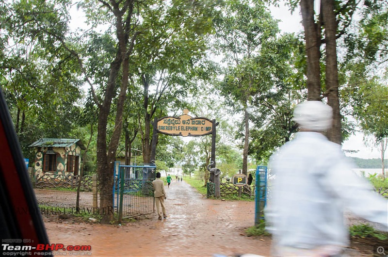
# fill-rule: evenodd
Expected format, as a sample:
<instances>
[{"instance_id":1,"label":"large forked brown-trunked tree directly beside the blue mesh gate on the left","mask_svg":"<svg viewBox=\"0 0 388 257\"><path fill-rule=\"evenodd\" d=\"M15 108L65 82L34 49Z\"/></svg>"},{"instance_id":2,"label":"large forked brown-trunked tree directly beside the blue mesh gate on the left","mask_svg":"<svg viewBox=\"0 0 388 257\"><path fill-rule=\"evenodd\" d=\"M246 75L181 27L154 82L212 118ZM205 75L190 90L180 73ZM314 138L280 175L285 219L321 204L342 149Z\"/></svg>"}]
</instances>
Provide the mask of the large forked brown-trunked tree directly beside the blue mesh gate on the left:
<instances>
[{"instance_id":1,"label":"large forked brown-trunked tree directly beside the blue mesh gate on the left","mask_svg":"<svg viewBox=\"0 0 388 257\"><path fill-rule=\"evenodd\" d=\"M103 210L102 223L113 220L113 176L114 160L123 128L124 103L129 83L129 63L138 34L143 30L137 10L145 6L136 0L84 1L84 8L89 18L101 23L110 20L115 32L114 58L109 66L106 85L100 88L100 98L91 85L94 100L98 107L97 121L97 174L100 181L100 208ZM104 16L104 18L102 18ZM119 86L118 86L119 85ZM112 112L113 98L116 97L114 110L114 128L110 138L107 137L108 119Z\"/></svg>"}]
</instances>

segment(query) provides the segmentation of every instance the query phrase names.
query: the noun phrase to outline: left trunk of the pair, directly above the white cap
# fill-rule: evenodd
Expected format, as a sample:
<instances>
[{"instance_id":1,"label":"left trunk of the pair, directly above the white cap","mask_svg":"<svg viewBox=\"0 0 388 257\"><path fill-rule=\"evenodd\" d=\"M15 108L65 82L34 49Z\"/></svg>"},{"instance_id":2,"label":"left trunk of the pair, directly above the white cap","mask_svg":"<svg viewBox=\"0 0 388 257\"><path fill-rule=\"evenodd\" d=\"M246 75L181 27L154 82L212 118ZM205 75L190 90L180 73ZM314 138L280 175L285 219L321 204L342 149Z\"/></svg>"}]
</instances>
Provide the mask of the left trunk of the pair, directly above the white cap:
<instances>
[{"instance_id":1,"label":"left trunk of the pair, directly above the white cap","mask_svg":"<svg viewBox=\"0 0 388 257\"><path fill-rule=\"evenodd\" d=\"M305 29L307 55L307 99L321 100L320 46L321 36L314 21L314 0L301 0L302 23Z\"/></svg>"}]
</instances>

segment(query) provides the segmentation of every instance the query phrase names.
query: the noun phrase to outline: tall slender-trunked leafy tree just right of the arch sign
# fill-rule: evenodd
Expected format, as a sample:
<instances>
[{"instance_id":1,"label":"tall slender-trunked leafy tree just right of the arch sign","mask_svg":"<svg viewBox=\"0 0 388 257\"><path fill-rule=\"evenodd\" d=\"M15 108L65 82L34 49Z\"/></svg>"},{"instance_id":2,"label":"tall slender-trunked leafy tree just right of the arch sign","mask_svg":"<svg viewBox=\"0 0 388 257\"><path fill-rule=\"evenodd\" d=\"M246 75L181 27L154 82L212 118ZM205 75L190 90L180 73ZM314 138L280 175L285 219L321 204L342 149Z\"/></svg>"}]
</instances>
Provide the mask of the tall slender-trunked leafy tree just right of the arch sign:
<instances>
[{"instance_id":1,"label":"tall slender-trunked leafy tree just right of the arch sign","mask_svg":"<svg viewBox=\"0 0 388 257\"><path fill-rule=\"evenodd\" d=\"M244 146L242 173L247 175L249 146L249 108L251 98L259 92L250 73L255 69L252 57L262 44L279 32L276 21L259 0L226 0L222 14L215 19L214 48L229 65L219 89L228 105L243 113ZM237 76L237 74L239 74Z\"/></svg>"}]
</instances>

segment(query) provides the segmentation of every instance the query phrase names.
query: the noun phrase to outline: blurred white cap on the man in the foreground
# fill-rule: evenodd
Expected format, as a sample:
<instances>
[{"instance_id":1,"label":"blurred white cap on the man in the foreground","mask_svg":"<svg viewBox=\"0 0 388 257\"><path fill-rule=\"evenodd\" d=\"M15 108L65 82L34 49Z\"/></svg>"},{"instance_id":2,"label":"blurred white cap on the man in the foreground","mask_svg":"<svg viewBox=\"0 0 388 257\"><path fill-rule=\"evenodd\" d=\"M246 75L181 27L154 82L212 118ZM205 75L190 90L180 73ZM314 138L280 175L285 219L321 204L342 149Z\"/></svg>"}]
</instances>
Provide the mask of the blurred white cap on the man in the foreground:
<instances>
[{"instance_id":1,"label":"blurred white cap on the man in the foreground","mask_svg":"<svg viewBox=\"0 0 388 257\"><path fill-rule=\"evenodd\" d=\"M307 101L294 109L293 120L300 128L324 131L333 125L333 109L321 101Z\"/></svg>"}]
</instances>

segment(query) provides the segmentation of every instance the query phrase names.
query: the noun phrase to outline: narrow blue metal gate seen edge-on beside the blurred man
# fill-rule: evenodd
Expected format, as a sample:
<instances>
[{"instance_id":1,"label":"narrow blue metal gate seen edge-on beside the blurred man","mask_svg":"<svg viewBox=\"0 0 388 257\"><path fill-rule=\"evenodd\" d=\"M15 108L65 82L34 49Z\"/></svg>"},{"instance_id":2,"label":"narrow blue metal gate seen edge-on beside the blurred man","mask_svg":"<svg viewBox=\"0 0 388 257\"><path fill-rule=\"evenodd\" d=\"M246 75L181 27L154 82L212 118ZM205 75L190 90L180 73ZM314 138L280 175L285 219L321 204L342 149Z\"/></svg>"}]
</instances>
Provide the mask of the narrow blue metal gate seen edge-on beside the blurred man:
<instances>
[{"instance_id":1,"label":"narrow blue metal gate seen edge-on beside the blurred man","mask_svg":"<svg viewBox=\"0 0 388 257\"><path fill-rule=\"evenodd\" d=\"M264 219L264 207L267 202L267 166L256 168L255 224Z\"/></svg>"}]
</instances>

